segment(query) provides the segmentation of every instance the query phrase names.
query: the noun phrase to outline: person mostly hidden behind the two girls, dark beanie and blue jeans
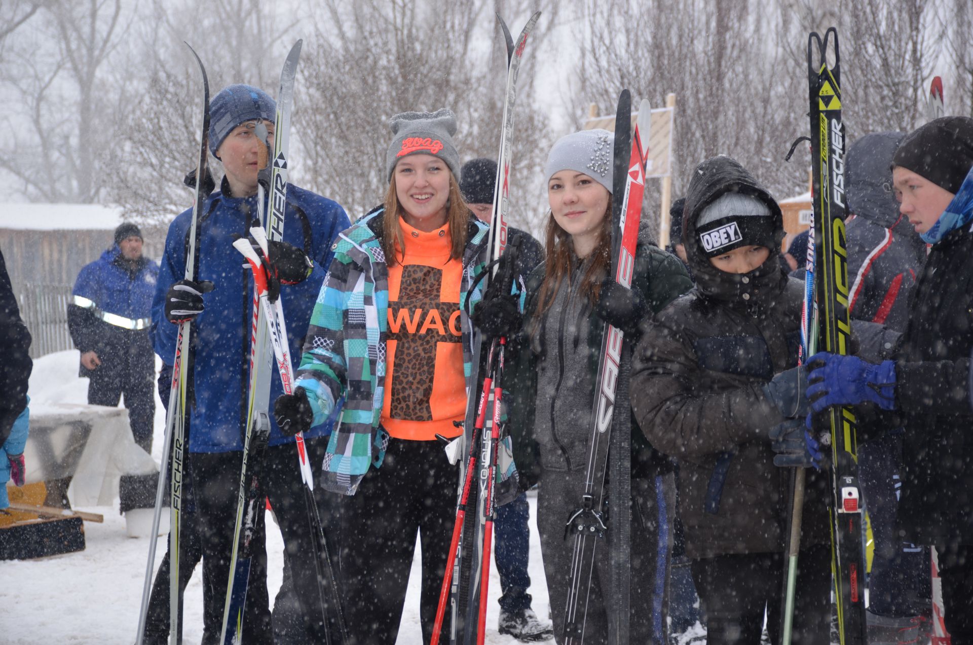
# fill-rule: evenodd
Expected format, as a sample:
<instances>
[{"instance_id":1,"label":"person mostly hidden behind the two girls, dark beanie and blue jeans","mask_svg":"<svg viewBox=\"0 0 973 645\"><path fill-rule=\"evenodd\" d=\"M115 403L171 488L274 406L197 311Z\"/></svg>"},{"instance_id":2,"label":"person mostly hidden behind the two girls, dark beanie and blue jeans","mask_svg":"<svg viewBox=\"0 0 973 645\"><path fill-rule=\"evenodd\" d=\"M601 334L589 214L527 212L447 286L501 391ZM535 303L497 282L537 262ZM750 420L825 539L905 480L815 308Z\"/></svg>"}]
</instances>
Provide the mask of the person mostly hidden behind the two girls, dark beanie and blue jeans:
<instances>
[{"instance_id":1,"label":"person mostly hidden behind the two girls, dark beanie and blue jeans","mask_svg":"<svg viewBox=\"0 0 973 645\"><path fill-rule=\"evenodd\" d=\"M459 192L463 194L466 205L477 218L489 224L493 218L493 194L496 186L496 162L492 159L473 159L463 164L459 177ZM544 260L544 249L540 243L521 229L508 227L508 244L520 240L520 254L516 271L518 276L527 276L531 269ZM527 518L526 493L521 493L513 502L508 502L496 510L493 521L495 536L496 569L500 574L500 588L503 593L497 600L500 604L498 630L519 640L547 640L554 635L550 621L537 618L530 606L530 576L527 563L530 555L530 530Z\"/></svg>"}]
</instances>

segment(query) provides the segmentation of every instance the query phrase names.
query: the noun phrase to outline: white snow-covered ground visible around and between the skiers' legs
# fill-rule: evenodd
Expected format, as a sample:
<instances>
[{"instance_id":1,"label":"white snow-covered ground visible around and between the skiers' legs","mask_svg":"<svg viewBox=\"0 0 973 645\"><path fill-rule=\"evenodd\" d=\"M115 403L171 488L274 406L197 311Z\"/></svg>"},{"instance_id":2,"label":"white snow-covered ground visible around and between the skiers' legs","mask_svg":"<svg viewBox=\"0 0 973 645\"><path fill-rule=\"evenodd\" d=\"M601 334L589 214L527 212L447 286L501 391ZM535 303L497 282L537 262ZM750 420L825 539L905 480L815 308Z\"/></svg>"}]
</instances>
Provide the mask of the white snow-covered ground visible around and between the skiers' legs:
<instances>
[{"instance_id":1,"label":"white snow-covered ground visible around and between the skiers' legs","mask_svg":"<svg viewBox=\"0 0 973 645\"><path fill-rule=\"evenodd\" d=\"M87 379L77 378L78 352L59 352L35 361L30 396L43 401L84 403ZM162 452L164 417L162 403L156 400L156 439L154 457ZM534 522L536 497L528 496L530 513L530 593L534 611L548 618L548 592L544 583L540 543ZM0 642L9 645L37 643L125 644L135 641L139 603L149 543L126 536L125 518L113 508L91 507L82 511L105 516L103 524L85 523L87 549L38 560L0 562ZM165 552L159 539L156 565ZM283 567L283 542L276 525L268 522L268 590L270 598L280 587ZM409 591L398 642L422 643L418 626L419 556L413 563ZM489 608L486 614L486 642L493 645L516 643L496 631L500 580L491 565ZM194 575L185 596L185 642L199 642L202 636L202 586Z\"/></svg>"}]
</instances>

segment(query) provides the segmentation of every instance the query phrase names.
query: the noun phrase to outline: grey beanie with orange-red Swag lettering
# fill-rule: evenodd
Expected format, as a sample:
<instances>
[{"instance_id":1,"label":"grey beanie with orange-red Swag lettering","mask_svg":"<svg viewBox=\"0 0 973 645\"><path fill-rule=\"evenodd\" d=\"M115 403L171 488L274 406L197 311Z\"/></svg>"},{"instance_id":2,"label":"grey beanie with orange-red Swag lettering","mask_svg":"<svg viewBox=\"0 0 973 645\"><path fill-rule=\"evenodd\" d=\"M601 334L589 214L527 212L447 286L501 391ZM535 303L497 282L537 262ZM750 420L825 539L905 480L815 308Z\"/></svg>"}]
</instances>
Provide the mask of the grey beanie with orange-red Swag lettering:
<instances>
[{"instance_id":1,"label":"grey beanie with orange-red Swag lettering","mask_svg":"<svg viewBox=\"0 0 973 645\"><path fill-rule=\"evenodd\" d=\"M400 159L417 154L439 157L459 181L459 155L452 145L456 115L452 110L444 107L435 112L403 112L392 117L389 127L394 134L385 154L389 181Z\"/></svg>"}]
</instances>

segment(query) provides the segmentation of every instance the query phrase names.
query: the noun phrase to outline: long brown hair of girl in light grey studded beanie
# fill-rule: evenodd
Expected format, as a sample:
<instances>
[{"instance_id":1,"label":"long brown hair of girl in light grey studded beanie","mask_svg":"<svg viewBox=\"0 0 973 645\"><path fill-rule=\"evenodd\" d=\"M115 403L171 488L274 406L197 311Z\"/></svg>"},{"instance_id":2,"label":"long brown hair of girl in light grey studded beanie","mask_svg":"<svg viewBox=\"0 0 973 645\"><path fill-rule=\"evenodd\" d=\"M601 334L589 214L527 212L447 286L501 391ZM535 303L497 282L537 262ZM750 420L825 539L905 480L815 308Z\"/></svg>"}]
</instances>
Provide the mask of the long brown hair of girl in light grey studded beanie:
<instances>
[{"instance_id":1,"label":"long brown hair of girl in light grey studded beanie","mask_svg":"<svg viewBox=\"0 0 973 645\"><path fill-rule=\"evenodd\" d=\"M598 232L598 243L592 251L592 262L581 277L580 290L588 296L588 303L594 307L601 295L601 281L608 275L611 265L611 193L608 194L608 207L601 220ZM545 231L544 281L538 289L537 313L540 319L551 305L554 304L560 284L567 279L571 285L571 264L575 259L574 246L571 236L564 231L554 218L554 213L548 211L548 223Z\"/></svg>"}]
</instances>

